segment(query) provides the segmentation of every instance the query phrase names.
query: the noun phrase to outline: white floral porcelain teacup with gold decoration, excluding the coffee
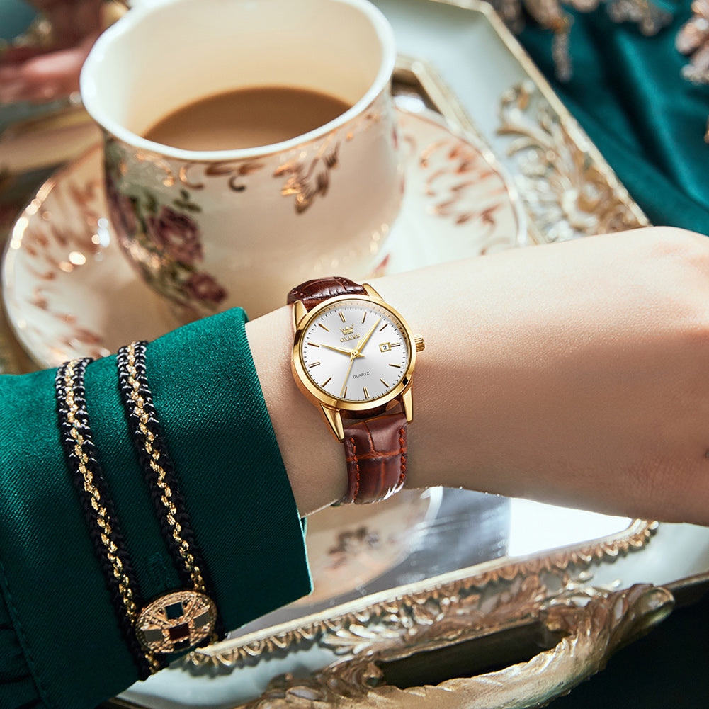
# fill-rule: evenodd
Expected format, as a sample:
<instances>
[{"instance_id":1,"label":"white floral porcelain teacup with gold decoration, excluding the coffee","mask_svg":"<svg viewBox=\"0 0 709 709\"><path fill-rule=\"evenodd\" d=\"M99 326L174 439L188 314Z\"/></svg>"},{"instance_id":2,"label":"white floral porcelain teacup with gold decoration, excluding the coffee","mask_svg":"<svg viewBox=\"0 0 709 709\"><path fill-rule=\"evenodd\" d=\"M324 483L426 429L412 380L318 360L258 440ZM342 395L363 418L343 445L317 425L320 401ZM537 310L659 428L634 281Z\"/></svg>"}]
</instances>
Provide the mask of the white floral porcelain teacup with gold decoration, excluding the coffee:
<instances>
[{"instance_id":1,"label":"white floral porcelain teacup with gold decoration, excluding the coffee","mask_svg":"<svg viewBox=\"0 0 709 709\"><path fill-rule=\"evenodd\" d=\"M184 319L250 316L292 286L362 277L401 205L393 33L366 0L168 0L96 41L81 78L104 130L108 210L125 255ZM161 118L233 89L286 86L344 113L271 145L147 140Z\"/></svg>"}]
</instances>

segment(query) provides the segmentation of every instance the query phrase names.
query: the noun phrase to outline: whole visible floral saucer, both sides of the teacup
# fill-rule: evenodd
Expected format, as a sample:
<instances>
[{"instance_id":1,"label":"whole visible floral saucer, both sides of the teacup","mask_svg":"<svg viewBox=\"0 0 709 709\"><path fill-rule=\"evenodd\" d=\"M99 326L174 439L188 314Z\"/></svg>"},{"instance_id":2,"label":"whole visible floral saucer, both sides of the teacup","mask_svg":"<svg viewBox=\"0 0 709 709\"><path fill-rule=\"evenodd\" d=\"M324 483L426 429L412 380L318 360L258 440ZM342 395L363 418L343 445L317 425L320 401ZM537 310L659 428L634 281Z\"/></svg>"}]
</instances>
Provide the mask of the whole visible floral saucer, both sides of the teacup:
<instances>
[{"instance_id":1,"label":"whole visible floral saucer, both sides of the teacup","mask_svg":"<svg viewBox=\"0 0 709 709\"><path fill-rule=\"evenodd\" d=\"M397 113L406 188L372 275L525 242L523 211L491 152L437 113ZM6 247L6 311L41 367L103 357L181 324L118 249L101 161L96 145L57 172L18 218Z\"/></svg>"}]
</instances>

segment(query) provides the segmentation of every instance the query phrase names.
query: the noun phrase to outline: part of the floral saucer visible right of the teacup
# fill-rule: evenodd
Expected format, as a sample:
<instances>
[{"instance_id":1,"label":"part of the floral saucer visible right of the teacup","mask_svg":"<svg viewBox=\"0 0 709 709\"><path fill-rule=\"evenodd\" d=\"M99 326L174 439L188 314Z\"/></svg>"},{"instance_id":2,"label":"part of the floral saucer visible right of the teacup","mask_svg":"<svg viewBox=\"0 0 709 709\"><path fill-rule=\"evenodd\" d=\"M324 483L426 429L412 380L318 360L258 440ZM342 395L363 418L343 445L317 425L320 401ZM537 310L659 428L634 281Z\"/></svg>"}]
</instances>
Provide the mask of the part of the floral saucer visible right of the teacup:
<instances>
[{"instance_id":1,"label":"part of the floral saucer visible right of the teacup","mask_svg":"<svg viewBox=\"0 0 709 709\"><path fill-rule=\"evenodd\" d=\"M432 111L400 109L398 130L406 189L374 275L526 244L523 208L488 147Z\"/></svg>"}]
</instances>

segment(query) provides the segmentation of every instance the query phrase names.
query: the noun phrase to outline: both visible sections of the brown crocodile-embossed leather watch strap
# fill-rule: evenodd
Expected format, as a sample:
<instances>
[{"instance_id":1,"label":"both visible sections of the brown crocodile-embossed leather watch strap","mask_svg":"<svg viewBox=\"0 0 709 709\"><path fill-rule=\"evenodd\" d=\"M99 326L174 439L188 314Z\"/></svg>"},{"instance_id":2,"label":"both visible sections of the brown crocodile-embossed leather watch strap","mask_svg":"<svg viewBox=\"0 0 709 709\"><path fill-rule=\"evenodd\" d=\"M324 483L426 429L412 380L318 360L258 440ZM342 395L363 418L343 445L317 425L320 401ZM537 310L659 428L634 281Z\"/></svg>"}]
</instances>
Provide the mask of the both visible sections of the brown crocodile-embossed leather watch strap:
<instances>
[{"instance_id":1,"label":"both visible sections of the brown crocodile-embossed leather watch strap","mask_svg":"<svg viewBox=\"0 0 709 709\"><path fill-rule=\"evenodd\" d=\"M328 298L361 295L367 291L354 281L333 277L307 281L288 294L311 311ZM343 422L347 492L338 504L379 502L401 490L406 479L406 415L379 413Z\"/></svg>"}]
</instances>

